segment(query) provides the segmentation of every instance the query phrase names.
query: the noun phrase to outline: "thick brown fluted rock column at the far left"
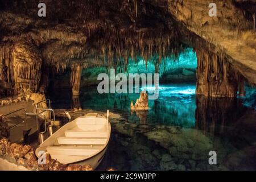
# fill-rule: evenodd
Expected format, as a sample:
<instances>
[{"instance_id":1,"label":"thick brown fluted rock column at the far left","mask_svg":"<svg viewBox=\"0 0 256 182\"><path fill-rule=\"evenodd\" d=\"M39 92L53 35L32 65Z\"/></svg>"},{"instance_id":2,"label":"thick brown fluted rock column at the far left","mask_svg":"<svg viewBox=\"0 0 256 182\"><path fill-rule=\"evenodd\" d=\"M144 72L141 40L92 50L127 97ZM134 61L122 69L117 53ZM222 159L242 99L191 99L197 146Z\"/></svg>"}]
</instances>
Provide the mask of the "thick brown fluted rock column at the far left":
<instances>
[{"instance_id":1,"label":"thick brown fluted rock column at the far left","mask_svg":"<svg viewBox=\"0 0 256 182\"><path fill-rule=\"evenodd\" d=\"M38 49L28 40L1 47L0 59L7 67L7 81L15 82L15 87L30 85L38 90L41 76L42 58Z\"/></svg>"}]
</instances>

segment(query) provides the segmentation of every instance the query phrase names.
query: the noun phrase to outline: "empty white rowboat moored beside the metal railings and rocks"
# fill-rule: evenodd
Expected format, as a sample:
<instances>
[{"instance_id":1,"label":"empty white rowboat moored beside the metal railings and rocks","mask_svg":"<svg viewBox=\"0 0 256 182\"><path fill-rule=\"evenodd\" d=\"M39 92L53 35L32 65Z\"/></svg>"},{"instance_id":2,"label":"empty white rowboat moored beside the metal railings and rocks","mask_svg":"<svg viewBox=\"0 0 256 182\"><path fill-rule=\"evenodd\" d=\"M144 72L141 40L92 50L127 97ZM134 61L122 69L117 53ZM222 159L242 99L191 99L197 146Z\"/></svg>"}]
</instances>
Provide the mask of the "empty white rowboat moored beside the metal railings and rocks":
<instances>
[{"instance_id":1,"label":"empty white rowboat moored beside the metal railings and rocks","mask_svg":"<svg viewBox=\"0 0 256 182\"><path fill-rule=\"evenodd\" d=\"M97 113L86 114L57 130L35 153L39 157L39 151L47 151L60 163L90 164L96 169L104 158L110 134L108 118Z\"/></svg>"}]
</instances>

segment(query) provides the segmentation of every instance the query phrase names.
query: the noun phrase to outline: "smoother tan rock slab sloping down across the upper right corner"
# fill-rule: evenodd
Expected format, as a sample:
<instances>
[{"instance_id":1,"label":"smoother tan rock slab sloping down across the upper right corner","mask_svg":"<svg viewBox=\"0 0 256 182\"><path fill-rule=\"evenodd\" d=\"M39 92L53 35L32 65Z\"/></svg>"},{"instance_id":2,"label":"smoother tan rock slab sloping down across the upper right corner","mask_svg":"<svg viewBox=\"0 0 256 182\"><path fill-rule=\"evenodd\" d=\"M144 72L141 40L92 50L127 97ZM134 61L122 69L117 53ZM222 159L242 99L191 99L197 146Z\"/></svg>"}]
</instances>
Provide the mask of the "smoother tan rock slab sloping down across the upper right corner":
<instances>
[{"instance_id":1,"label":"smoother tan rock slab sloping down across the upper right corner","mask_svg":"<svg viewBox=\"0 0 256 182\"><path fill-rule=\"evenodd\" d=\"M170 0L162 3L189 31L213 44L215 53L224 52L230 56L229 63L249 82L256 84L255 1L216 0L216 17L208 15L212 1Z\"/></svg>"}]
</instances>

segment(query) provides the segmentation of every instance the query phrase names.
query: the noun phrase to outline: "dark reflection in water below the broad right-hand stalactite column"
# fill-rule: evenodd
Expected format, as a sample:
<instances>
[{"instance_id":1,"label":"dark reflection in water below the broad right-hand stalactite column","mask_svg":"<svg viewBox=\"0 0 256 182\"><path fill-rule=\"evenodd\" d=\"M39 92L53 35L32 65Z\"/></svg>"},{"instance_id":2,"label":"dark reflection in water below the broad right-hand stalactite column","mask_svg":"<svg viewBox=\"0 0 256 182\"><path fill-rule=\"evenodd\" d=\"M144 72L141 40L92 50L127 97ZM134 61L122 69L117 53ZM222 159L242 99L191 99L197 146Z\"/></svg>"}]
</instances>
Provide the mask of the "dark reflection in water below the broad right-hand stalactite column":
<instances>
[{"instance_id":1,"label":"dark reflection in water below the broad right-hand stalactite column","mask_svg":"<svg viewBox=\"0 0 256 182\"><path fill-rule=\"evenodd\" d=\"M224 134L247 110L237 98L196 97L196 129L212 135Z\"/></svg>"}]
</instances>

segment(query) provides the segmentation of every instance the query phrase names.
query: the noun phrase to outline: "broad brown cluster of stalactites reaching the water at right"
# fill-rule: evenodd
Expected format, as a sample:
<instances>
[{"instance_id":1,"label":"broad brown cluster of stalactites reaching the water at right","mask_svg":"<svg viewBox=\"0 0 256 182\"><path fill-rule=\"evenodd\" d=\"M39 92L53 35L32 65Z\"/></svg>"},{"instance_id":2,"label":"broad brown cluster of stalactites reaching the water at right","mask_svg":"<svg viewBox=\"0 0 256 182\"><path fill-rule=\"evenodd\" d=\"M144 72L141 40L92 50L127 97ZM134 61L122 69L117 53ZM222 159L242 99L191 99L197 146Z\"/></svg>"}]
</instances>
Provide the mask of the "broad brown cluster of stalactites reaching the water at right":
<instances>
[{"instance_id":1,"label":"broad brown cluster of stalactites reaching the water at right","mask_svg":"<svg viewBox=\"0 0 256 182\"><path fill-rule=\"evenodd\" d=\"M197 94L211 97L236 97L244 94L244 78L226 57L209 50L198 49Z\"/></svg>"}]
</instances>

